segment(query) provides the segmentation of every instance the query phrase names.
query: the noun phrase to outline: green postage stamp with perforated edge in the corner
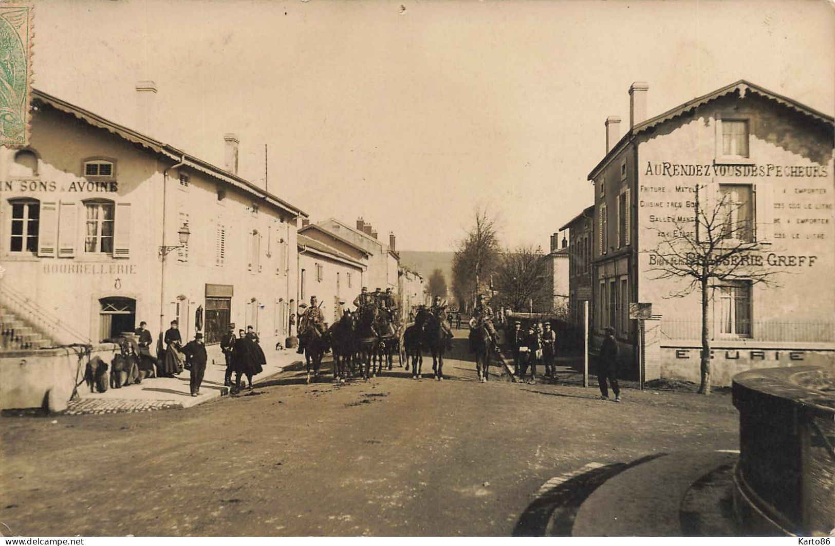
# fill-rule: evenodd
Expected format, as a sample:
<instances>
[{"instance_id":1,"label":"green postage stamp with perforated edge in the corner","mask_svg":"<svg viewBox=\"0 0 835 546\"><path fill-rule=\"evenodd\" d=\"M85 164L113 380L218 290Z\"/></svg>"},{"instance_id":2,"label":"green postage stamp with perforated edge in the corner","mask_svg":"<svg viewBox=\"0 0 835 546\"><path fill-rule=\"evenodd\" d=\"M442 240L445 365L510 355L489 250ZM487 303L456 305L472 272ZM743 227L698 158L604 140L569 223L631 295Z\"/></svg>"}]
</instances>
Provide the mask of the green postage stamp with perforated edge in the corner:
<instances>
[{"instance_id":1,"label":"green postage stamp with perforated edge in the corner","mask_svg":"<svg viewBox=\"0 0 835 546\"><path fill-rule=\"evenodd\" d=\"M32 5L0 2L0 144L29 141Z\"/></svg>"}]
</instances>

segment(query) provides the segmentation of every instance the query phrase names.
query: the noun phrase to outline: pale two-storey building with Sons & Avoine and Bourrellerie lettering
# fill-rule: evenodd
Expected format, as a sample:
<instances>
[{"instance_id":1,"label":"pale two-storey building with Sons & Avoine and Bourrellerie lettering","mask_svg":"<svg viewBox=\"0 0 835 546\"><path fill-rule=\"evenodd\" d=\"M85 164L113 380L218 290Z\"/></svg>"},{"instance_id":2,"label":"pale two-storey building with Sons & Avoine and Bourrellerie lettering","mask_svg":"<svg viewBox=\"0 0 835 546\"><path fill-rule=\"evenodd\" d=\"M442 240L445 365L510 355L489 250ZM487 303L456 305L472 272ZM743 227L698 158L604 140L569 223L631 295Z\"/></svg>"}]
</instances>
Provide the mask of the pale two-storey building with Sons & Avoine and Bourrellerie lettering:
<instances>
[{"instance_id":1,"label":"pale two-storey building with Sons & Avoine and Bourrellerie lettering","mask_svg":"<svg viewBox=\"0 0 835 546\"><path fill-rule=\"evenodd\" d=\"M225 135L221 169L32 96L30 147L0 150L0 305L7 318L25 317L31 346L96 343L139 321L156 341L173 319L184 337L203 330L208 343L230 321L283 341L306 213L236 174L235 135Z\"/></svg>"}]
</instances>

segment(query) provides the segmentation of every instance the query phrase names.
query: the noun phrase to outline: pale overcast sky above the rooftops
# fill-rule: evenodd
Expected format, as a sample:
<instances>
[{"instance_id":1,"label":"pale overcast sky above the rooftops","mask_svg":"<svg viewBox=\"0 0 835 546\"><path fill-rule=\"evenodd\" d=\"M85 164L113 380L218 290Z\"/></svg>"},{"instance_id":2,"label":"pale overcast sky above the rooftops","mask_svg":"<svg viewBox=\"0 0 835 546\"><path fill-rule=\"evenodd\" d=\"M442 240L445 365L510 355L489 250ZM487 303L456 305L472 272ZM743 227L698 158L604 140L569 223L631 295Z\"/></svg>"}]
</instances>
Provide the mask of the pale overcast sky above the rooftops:
<instances>
[{"instance_id":1,"label":"pale overcast sky above the rooftops","mask_svg":"<svg viewBox=\"0 0 835 546\"><path fill-rule=\"evenodd\" d=\"M745 78L832 114L832 4L787 2L36 2L35 86L240 174L314 221L362 215L406 250L449 250L482 202L507 245L592 203L604 121Z\"/></svg>"}]
</instances>

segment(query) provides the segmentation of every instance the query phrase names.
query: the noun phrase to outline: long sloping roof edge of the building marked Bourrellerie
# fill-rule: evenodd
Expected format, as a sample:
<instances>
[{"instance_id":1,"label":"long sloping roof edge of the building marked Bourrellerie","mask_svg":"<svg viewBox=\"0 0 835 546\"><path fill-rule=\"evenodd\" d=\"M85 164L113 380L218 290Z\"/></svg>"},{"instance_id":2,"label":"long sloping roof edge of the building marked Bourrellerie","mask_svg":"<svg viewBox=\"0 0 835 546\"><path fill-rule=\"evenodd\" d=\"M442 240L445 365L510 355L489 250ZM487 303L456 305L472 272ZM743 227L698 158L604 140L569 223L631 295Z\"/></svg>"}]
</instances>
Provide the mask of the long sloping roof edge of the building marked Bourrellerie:
<instances>
[{"instance_id":1,"label":"long sloping roof edge of the building marked Bourrellerie","mask_svg":"<svg viewBox=\"0 0 835 546\"><path fill-rule=\"evenodd\" d=\"M267 203L278 207L279 209L286 210L293 215L299 215L307 217L307 213L293 205L290 205L285 200L281 200L280 198L276 197L276 195L272 195L270 192L266 190L261 190L258 186L252 184L249 180L241 178L237 174L232 174L225 169L220 169L220 167L215 166L214 164L210 164L208 161L204 159L197 158L193 155L186 154L183 150L175 148L170 144L165 144L164 142L160 142L157 139L149 137L146 134L141 134L134 129L129 129L124 125L116 124L109 119L104 119L98 114L94 114L89 110L85 110L80 108L74 104L69 104L66 101L53 97L50 94L46 94L43 91L38 89L32 90L32 97L35 100L38 100L42 104L48 104L49 106L61 111L65 114L72 114L78 119L93 125L94 127L98 127L99 129L104 129L119 136L122 139L128 140L133 144L139 144L139 146L143 146L146 149L150 149L154 151L156 154L164 155L168 159L175 161L175 163L182 162L185 166L190 167L191 169L199 170L202 173L209 174L215 179L220 180L221 182L225 182L226 184L235 186L239 190L244 190L246 193L258 197L260 199L265 200Z\"/></svg>"}]
</instances>

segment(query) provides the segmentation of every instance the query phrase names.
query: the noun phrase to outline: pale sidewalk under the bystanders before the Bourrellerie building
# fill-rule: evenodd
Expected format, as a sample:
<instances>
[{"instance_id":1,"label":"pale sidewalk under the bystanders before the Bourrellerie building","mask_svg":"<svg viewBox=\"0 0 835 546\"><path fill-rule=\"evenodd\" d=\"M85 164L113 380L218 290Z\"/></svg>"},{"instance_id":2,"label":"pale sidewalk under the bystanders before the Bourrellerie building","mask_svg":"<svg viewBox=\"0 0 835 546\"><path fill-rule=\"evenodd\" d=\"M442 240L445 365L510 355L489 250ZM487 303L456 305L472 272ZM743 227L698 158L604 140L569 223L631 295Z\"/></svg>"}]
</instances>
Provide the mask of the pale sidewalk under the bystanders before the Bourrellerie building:
<instances>
[{"instance_id":1,"label":"pale sidewalk under the bystanders before the Bourrellerie building","mask_svg":"<svg viewBox=\"0 0 835 546\"><path fill-rule=\"evenodd\" d=\"M253 384L258 385L272 376L289 369L301 368L304 356L296 353L295 349L275 351L272 347L261 346L266 355L266 366L253 378ZM65 415L80 415L83 413L116 413L116 412L144 412L156 409L185 408L196 406L212 398L225 396L229 387L223 386L226 361L220 352L220 346L206 347L208 363L200 386L200 395L191 396L189 388L190 373L184 370L177 377L154 377L146 379L136 385L129 385L119 389L109 388L105 392L89 392L89 387L82 384L78 387L79 397L69 402L63 413ZM232 377L233 381L235 377ZM245 379L243 379L245 382Z\"/></svg>"}]
</instances>

